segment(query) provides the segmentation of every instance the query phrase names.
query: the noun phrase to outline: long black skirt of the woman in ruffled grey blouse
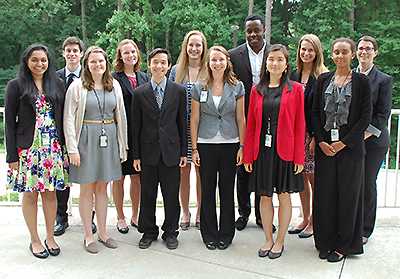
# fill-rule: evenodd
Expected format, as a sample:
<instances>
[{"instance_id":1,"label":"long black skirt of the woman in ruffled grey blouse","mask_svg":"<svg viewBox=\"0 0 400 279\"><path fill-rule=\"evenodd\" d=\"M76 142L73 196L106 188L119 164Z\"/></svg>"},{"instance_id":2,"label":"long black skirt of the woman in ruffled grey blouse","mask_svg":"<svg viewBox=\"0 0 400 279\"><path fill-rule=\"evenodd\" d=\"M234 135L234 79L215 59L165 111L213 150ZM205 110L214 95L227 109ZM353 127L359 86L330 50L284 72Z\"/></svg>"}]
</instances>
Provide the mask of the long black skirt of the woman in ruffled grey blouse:
<instances>
[{"instance_id":1,"label":"long black skirt of the woman in ruffled grey blouse","mask_svg":"<svg viewBox=\"0 0 400 279\"><path fill-rule=\"evenodd\" d=\"M328 157L315 149L313 222L318 250L363 253L363 172L364 156L343 149Z\"/></svg>"}]
</instances>

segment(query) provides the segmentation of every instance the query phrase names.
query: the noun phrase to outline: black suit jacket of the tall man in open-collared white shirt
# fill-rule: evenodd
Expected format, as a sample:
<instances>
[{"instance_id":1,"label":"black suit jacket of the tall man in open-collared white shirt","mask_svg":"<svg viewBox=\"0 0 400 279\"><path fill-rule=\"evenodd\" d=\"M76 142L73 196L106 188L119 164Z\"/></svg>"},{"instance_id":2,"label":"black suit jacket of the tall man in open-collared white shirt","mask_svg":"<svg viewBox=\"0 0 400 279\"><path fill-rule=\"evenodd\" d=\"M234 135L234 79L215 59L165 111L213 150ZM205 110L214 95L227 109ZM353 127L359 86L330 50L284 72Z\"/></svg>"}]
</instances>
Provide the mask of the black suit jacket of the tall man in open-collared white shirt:
<instances>
[{"instance_id":1,"label":"black suit jacket of the tall man in open-collared white shirt","mask_svg":"<svg viewBox=\"0 0 400 279\"><path fill-rule=\"evenodd\" d=\"M267 50L268 46L264 48L263 59L265 58L265 53ZM244 90L246 93L244 96L244 109L247 116L250 102L250 91L251 87L253 86L253 74L251 73L249 50L247 49L246 43L244 43L234 49L230 49L229 54L231 56L233 72L236 74L236 77L243 82L244 85Z\"/></svg>"}]
</instances>

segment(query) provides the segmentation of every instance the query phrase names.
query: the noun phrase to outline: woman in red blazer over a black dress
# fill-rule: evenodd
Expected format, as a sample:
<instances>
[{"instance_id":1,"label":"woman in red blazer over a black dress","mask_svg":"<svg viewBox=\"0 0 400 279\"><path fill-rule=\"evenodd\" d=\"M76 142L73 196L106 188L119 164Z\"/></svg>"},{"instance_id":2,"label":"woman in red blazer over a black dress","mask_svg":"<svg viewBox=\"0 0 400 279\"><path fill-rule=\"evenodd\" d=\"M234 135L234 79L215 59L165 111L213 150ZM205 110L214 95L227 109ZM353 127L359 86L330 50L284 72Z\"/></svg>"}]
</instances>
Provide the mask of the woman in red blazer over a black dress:
<instances>
[{"instance_id":1,"label":"woman in red blazer over a black dress","mask_svg":"<svg viewBox=\"0 0 400 279\"><path fill-rule=\"evenodd\" d=\"M250 93L244 160L250 189L261 196L260 212L265 244L260 257L282 255L292 215L290 193L303 190L299 175L304 164L304 93L301 84L288 80L288 51L272 45L265 55L260 83ZM254 163L254 171L253 171ZM274 242L272 194L279 199L279 229Z\"/></svg>"}]
</instances>

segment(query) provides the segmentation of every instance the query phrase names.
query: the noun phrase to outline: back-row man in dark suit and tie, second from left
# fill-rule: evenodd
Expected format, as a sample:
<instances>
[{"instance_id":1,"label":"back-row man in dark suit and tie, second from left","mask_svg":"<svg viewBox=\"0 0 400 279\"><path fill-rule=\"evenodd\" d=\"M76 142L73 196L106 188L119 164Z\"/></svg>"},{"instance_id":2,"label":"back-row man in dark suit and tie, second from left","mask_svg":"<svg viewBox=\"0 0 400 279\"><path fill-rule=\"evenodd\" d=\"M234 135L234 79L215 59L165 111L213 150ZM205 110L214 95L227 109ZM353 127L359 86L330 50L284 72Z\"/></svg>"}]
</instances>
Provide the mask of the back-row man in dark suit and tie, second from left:
<instances>
[{"instance_id":1,"label":"back-row man in dark suit and tie, second from left","mask_svg":"<svg viewBox=\"0 0 400 279\"><path fill-rule=\"evenodd\" d=\"M83 56L84 44L77 37L68 37L63 42L63 57L65 59L65 67L57 71L58 76L64 81L65 91L68 90L70 84L81 76L81 58ZM54 226L54 235L64 234L68 228L68 199L70 188L64 191L57 191L57 217ZM94 212L93 212L94 213ZM92 222L92 230L96 232L96 225Z\"/></svg>"}]
</instances>

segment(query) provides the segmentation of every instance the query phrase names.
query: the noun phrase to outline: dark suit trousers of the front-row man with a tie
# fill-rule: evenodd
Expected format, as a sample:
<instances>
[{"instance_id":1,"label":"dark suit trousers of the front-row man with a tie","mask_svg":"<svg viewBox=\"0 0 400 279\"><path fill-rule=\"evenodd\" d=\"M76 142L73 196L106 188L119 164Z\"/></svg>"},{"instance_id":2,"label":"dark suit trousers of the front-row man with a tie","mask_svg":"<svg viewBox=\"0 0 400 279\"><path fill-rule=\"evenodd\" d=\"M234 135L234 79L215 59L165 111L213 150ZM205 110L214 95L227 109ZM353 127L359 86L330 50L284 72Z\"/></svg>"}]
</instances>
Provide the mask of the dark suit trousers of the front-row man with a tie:
<instances>
[{"instance_id":1,"label":"dark suit trousers of the front-row man with a tie","mask_svg":"<svg viewBox=\"0 0 400 279\"><path fill-rule=\"evenodd\" d=\"M140 174L141 195L139 212L139 232L143 237L157 239L158 226L156 225L156 202L158 183L164 202L164 223L161 229L164 231L162 238L178 235L178 223L180 215L179 205L179 166L167 167L160 159L158 165L142 165Z\"/></svg>"}]
</instances>

